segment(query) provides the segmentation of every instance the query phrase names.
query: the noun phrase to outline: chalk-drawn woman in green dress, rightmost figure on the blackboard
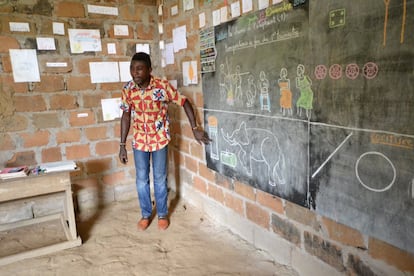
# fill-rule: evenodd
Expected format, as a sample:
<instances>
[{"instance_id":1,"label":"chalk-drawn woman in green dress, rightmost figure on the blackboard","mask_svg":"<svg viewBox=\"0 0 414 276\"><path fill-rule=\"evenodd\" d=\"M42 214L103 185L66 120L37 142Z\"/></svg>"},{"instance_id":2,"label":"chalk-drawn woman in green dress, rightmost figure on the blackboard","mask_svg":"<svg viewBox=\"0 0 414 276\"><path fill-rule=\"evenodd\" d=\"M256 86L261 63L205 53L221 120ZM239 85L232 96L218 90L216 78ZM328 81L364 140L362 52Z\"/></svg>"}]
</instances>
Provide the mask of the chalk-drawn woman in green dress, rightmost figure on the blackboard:
<instances>
[{"instance_id":1,"label":"chalk-drawn woman in green dress, rightmost figure on the blackboard","mask_svg":"<svg viewBox=\"0 0 414 276\"><path fill-rule=\"evenodd\" d=\"M313 91L311 89L312 80L305 75L305 66L299 64L296 69L296 87L299 89L300 96L296 102L297 112L302 115L302 109L306 110L306 117L309 119L312 112Z\"/></svg>"}]
</instances>

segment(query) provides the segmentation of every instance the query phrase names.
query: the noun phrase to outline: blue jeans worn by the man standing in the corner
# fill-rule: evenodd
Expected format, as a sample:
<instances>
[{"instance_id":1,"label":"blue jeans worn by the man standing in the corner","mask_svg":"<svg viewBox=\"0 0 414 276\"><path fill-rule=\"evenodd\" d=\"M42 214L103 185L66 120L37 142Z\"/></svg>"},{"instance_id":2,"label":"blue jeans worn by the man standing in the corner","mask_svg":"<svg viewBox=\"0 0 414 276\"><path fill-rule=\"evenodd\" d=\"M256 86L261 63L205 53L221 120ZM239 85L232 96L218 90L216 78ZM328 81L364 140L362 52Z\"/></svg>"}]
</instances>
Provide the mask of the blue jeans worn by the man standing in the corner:
<instances>
[{"instance_id":1,"label":"blue jeans worn by the man standing in the corner","mask_svg":"<svg viewBox=\"0 0 414 276\"><path fill-rule=\"evenodd\" d=\"M151 192L150 192L150 160L152 161L152 173L154 178L154 195L158 217L167 217L168 191L167 191L167 157L168 146L153 152L133 150L136 187L139 205L143 218L149 218L152 214ZM151 157L151 159L150 159Z\"/></svg>"}]
</instances>

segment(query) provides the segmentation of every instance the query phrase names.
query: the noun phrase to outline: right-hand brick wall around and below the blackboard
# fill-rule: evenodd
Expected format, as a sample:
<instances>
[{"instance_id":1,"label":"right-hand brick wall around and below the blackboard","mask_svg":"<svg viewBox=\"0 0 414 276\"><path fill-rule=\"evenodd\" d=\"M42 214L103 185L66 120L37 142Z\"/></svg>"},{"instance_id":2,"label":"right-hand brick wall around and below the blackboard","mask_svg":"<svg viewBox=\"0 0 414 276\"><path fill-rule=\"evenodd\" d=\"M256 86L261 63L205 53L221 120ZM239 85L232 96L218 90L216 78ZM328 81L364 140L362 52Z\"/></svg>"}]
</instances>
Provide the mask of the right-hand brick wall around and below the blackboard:
<instances>
[{"instance_id":1,"label":"right-hand brick wall around and below the blackboard","mask_svg":"<svg viewBox=\"0 0 414 276\"><path fill-rule=\"evenodd\" d=\"M184 11L183 1L164 1L164 33L160 39L172 42L173 29L185 25L188 43L187 49L175 54L175 63L166 66L168 79L178 79L180 86L182 63L200 60L199 14L205 14L206 27L211 27L212 12L224 6L230 11L230 5L234 2L236 0L197 0L194 1L194 9ZM242 5L242 1L240 3ZM178 7L178 14L171 15L175 6ZM253 7L253 12L258 10L258 1L253 0ZM180 87L180 90L194 99L202 122L201 82ZM184 124L184 121L177 123ZM175 132L176 139L172 144L174 160L170 165L174 168L178 181L175 185L180 193L235 233L270 252L278 262L292 265L301 275L414 273L412 254L210 170L206 166L204 149L194 142L188 125L174 129L181 131Z\"/></svg>"}]
</instances>

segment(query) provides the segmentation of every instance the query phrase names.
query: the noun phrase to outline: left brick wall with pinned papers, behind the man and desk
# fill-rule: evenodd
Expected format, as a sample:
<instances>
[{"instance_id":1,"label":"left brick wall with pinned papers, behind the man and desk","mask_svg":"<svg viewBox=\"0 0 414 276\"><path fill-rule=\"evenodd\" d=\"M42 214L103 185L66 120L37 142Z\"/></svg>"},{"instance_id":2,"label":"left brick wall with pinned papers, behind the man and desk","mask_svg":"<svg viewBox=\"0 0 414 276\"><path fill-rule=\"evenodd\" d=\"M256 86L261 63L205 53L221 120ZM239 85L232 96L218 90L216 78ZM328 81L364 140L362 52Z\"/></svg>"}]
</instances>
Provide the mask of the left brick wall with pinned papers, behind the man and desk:
<instances>
[{"instance_id":1,"label":"left brick wall with pinned papers, behind the man and desk","mask_svg":"<svg viewBox=\"0 0 414 276\"><path fill-rule=\"evenodd\" d=\"M88 13L88 4L117 8L118 15ZM145 43L161 74L157 21L155 0L1 1L0 166L73 160L78 205L136 197L133 157L126 166L118 160L119 119L104 121L101 108L101 99L120 97L123 83L91 83L89 62L130 61L136 44ZM30 31L11 31L10 22L28 23ZM64 24L64 35L53 33L53 22ZM127 25L128 35L116 36L114 25ZM102 51L71 53L68 29L99 30ZM9 49L37 49L37 37L52 37L56 50L37 50L40 82L16 83ZM107 43L116 54L108 54Z\"/></svg>"}]
</instances>

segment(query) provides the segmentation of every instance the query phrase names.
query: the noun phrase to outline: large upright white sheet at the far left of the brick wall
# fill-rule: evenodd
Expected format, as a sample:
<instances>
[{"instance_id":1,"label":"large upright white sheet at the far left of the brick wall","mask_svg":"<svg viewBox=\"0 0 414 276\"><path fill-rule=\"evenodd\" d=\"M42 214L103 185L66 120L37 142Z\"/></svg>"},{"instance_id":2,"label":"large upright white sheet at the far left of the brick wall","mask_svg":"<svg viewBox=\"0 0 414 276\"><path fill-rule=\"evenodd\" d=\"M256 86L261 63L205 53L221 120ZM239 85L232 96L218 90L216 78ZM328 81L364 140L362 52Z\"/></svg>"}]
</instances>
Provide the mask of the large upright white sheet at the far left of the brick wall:
<instances>
[{"instance_id":1,"label":"large upright white sheet at the far left of the brick wall","mask_svg":"<svg viewBox=\"0 0 414 276\"><path fill-rule=\"evenodd\" d=\"M10 49L14 82L40 82L36 50Z\"/></svg>"}]
</instances>

